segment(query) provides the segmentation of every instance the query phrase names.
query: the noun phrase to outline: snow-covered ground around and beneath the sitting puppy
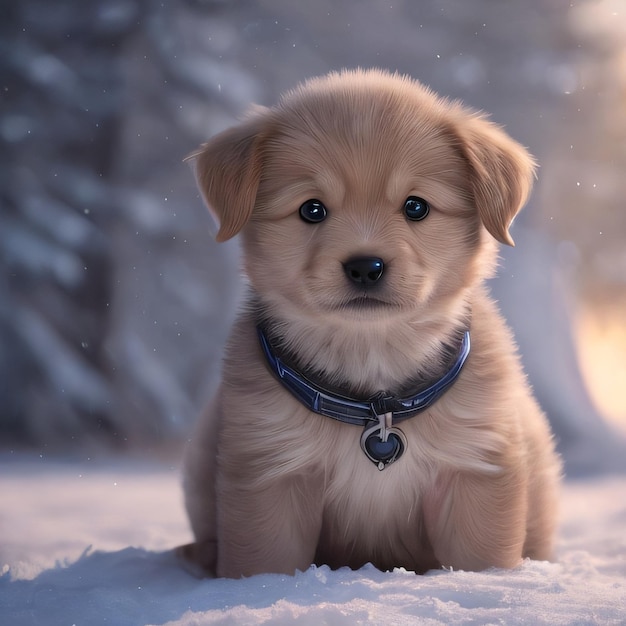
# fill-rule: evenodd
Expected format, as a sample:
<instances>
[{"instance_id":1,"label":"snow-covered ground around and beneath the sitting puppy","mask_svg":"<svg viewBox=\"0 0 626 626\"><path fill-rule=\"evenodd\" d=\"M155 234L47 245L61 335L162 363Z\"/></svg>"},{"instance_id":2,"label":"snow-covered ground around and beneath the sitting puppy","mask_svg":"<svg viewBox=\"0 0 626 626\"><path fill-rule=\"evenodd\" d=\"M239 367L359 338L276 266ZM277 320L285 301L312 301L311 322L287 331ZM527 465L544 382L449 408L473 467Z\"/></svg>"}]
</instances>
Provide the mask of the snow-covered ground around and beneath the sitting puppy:
<instances>
[{"instance_id":1,"label":"snow-covered ground around and beneath the sitting puppy","mask_svg":"<svg viewBox=\"0 0 626 626\"><path fill-rule=\"evenodd\" d=\"M0 457L0 624L626 624L626 476L568 482L558 562L198 580L178 469Z\"/></svg>"}]
</instances>

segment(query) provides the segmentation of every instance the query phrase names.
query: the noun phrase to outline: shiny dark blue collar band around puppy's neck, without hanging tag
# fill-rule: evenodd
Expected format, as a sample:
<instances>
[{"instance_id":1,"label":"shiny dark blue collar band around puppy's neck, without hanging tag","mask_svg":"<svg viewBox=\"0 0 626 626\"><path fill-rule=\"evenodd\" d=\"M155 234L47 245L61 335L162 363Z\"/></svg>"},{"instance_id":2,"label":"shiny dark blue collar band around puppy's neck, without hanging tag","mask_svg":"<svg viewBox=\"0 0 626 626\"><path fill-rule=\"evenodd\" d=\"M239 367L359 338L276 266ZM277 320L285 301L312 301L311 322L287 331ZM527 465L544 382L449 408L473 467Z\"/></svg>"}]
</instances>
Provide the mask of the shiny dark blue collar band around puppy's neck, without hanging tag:
<instances>
[{"instance_id":1,"label":"shiny dark blue collar band around puppy's neck, without hanging tag","mask_svg":"<svg viewBox=\"0 0 626 626\"><path fill-rule=\"evenodd\" d=\"M466 330L456 360L450 369L426 389L412 396L397 398L379 392L368 400L356 400L325 389L298 373L276 354L262 327L257 326L259 341L270 371L307 409L340 422L368 426L387 416L388 426L414 417L432 406L458 378L470 352L470 333Z\"/></svg>"}]
</instances>

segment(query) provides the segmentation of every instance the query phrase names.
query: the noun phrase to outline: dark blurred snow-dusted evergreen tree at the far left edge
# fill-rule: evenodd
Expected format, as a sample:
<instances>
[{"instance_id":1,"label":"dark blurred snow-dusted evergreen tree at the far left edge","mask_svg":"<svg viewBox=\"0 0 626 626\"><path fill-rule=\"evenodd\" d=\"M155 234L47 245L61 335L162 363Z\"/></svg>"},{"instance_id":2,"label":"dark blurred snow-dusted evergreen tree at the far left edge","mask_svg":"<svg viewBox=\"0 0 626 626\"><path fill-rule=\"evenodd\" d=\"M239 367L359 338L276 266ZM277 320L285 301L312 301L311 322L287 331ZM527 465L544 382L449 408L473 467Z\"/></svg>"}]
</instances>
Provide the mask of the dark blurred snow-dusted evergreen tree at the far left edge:
<instances>
[{"instance_id":1,"label":"dark blurred snow-dusted evergreen tree at the far left edge","mask_svg":"<svg viewBox=\"0 0 626 626\"><path fill-rule=\"evenodd\" d=\"M2 3L0 432L43 443L118 428L103 355L106 225L139 3Z\"/></svg>"}]
</instances>

